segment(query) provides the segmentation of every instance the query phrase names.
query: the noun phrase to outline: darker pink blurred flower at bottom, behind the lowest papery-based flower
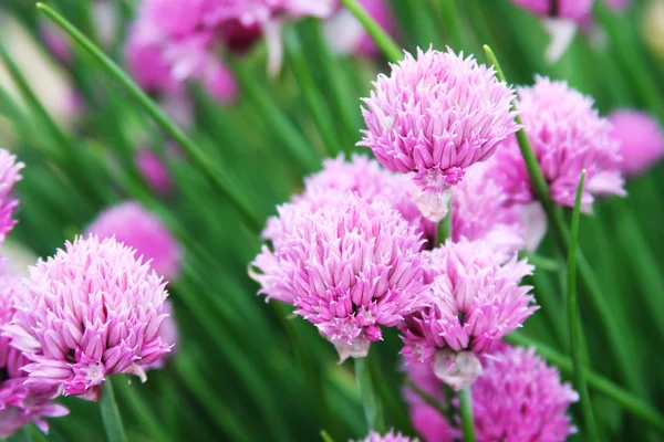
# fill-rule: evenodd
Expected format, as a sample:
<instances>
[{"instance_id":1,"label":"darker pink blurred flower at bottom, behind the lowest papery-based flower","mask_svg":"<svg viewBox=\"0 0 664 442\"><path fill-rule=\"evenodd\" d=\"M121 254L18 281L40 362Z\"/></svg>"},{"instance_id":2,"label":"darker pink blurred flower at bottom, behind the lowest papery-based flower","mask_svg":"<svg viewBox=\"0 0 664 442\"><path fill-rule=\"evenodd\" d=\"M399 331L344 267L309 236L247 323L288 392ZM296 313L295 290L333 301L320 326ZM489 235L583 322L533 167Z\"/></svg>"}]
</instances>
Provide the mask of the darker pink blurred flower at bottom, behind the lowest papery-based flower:
<instances>
[{"instance_id":1,"label":"darker pink blurred flower at bottom, behind the lowest papery-based flower","mask_svg":"<svg viewBox=\"0 0 664 442\"><path fill-rule=\"evenodd\" d=\"M533 350L500 344L481 360L484 373L470 388L478 442L562 442L575 432L566 412L579 396ZM453 404L458 407L458 401ZM425 442L459 436L433 407L422 401L411 407L413 425Z\"/></svg>"}]
</instances>

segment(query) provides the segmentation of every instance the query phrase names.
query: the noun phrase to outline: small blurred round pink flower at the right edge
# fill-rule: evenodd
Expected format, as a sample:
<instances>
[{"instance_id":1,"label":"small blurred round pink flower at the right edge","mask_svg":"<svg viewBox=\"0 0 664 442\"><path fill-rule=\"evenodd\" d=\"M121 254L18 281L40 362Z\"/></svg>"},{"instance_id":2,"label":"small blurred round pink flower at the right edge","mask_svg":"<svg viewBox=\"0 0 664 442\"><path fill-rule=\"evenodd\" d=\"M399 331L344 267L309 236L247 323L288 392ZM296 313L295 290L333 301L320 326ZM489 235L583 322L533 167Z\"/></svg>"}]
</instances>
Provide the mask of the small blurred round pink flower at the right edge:
<instances>
[{"instance_id":1,"label":"small blurred round pink flower at the right edge","mask_svg":"<svg viewBox=\"0 0 664 442\"><path fill-rule=\"evenodd\" d=\"M623 173L635 177L664 157L664 130L650 114L621 109L609 115L611 137L620 143Z\"/></svg>"}]
</instances>

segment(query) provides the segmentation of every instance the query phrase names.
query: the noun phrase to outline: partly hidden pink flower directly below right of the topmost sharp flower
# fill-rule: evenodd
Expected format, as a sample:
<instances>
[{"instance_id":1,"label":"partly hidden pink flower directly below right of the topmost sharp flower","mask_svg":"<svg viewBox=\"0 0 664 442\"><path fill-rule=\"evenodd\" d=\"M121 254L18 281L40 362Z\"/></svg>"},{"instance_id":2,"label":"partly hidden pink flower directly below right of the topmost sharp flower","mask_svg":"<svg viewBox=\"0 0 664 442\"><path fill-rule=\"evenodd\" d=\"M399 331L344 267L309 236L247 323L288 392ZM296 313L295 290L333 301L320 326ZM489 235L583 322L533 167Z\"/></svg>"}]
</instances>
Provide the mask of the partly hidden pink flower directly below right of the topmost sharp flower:
<instances>
[{"instance_id":1,"label":"partly hidden pink flower directly below right of the topmost sharp flower","mask_svg":"<svg viewBox=\"0 0 664 442\"><path fill-rule=\"evenodd\" d=\"M535 250L547 231L547 215L537 202L512 203L496 182L489 160L468 169L453 192L452 239L483 240L509 260Z\"/></svg>"}]
</instances>

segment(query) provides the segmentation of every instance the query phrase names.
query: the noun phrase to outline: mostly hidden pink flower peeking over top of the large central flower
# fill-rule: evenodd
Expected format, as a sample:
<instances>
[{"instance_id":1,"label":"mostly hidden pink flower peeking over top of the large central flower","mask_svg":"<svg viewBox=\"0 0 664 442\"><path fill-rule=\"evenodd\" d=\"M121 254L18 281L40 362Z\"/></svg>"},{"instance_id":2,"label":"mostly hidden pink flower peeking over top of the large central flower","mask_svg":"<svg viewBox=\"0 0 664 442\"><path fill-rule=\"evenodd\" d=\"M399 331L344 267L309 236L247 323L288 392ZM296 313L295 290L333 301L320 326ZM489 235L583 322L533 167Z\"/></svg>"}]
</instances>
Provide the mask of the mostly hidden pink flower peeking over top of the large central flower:
<instances>
[{"instance_id":1,"label":"mostly hidden pink flower peeking over top of the large central flower","mask_svg":"<svg viewBox=\"0 0 664 442\"><path fill-rule=\"evenodd\" d=\"M323 162L323 170L304 179L304 193L295 197L315 198L320 189L336 189L356 192L371 201L385 201L416 228L423 238L433 240L436 224L426 220L415 204L417 186L406 176L392 173L373 159L363 155L353 155L351 161L345 161L343 155Z\"/></svg>"}]
</instances>

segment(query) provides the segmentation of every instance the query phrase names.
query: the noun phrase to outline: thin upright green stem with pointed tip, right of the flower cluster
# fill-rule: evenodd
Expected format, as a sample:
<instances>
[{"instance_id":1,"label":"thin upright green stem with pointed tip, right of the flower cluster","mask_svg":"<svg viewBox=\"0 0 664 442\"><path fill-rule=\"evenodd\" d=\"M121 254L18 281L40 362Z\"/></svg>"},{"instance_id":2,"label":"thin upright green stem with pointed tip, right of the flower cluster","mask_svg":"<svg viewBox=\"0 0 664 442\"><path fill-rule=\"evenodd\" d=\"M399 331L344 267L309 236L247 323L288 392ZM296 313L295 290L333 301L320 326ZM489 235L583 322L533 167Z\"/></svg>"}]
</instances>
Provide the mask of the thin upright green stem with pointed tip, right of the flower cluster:
<instances>
[{"instance_id":1,"label":"thin upright green stem with pointed tip, right of the flower cluster","mask_svg":"<svg viewBox=\"0 0 664 442\"><path fill-rule=\"evenodd\" d=\"M577 200L572 212L572 241L570 243L570 252L568 256L568 326L570 327L570 350L572 354L572 365L574 366L574 386L581 398L581 410L585 430L589 439L598 442L600 440L596 421L588 393L588 382L584 370L584 351L583 351L583 327L581 325L581 315L577 301L577 248L579 244L579 222L581 219L581 197L583 196L583 185L585 182L585 170L581 172L579 188L577 189Z\"/></svg>"}]
</instances>

